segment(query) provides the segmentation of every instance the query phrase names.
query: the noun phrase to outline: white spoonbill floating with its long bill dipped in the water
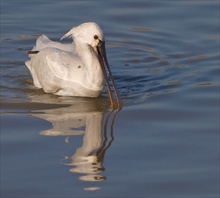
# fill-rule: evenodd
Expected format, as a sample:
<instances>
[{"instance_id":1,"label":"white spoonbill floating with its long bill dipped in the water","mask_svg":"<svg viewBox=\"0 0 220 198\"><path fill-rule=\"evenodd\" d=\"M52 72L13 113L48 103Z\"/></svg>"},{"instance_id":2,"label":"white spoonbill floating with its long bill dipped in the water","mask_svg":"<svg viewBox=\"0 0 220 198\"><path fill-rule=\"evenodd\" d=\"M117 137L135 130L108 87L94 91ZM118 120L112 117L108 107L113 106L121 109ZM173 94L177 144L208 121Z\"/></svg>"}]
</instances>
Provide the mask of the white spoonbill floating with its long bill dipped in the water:
<instances>
[{"instance_id":1,"label":"white spoonbill floating with its long bill dipped in the water","mask_svg":"<svg viewBox=\"0 0 220 198\"><path fill-rule=\"evenodd\" d=\"M55 95L98 97L103 89L104 76L111 106L120 109L121 102L108 65L101 28L94 22L83 23L73 27L61 40L65 37L72 37L73 43L54 42L42 35L28 52L30 60L25 64L34 85Z\"/></svg>"}]
</instances>

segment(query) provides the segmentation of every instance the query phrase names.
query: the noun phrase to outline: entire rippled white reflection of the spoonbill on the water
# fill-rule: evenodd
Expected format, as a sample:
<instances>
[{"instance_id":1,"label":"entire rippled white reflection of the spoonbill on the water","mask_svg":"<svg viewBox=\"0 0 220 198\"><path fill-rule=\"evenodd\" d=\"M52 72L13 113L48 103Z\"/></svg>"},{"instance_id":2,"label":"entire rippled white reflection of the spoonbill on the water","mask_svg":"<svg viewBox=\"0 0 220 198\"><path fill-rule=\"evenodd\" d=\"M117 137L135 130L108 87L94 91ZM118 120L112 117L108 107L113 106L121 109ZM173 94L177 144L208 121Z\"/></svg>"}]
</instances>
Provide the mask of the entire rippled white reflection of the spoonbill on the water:
<instances>
[{"instance_id":1,"label":"entire rippled white reflection of the spoonbill on the water","mask_svg":"<svg viewBox=\"0 0 220 198\"><path fill-rule=\"evenodd\" d=\"M47 94L45 94L48 97ZM36 102L38 96L32 97ZM59 98L59 99L58 99ZM50 104L70 104L70 99L62 97L46 98ZM40 97L42 102L42 95ZM64 102L65 101L65 102ZM45 105L44 105L45 106ZM102 174L104 156L111 146L113 125L118 110L109 111L109 103L105 98L87 99L72 98L70 106L34 111L34 116L52 123L52 128L41 131L45 136L65 136L69 143L72 135L82 135L83 142L72 156L65 157L62 163L70 166L69 171L79 173L82 181L102 181L106 177ZM89 187L85 190L98 190L99 187Z\"/></svg>"}]
</instances>

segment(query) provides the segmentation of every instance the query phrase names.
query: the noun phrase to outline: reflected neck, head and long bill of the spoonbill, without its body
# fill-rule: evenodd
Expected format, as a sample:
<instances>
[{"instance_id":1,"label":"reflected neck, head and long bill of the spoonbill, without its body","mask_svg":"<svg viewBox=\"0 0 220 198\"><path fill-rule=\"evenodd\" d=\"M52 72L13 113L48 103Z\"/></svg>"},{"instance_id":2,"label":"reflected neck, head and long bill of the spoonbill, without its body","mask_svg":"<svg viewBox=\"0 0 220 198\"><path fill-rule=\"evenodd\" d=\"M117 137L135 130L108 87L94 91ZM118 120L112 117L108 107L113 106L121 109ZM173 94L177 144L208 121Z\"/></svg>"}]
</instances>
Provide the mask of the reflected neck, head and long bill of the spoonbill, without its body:
<instances>
[{"instance_id":1,"label":"reflected neck, head and long bill of the spoonbill, without its body","mask_svg":"<svg viewBox=\"0 0 220 198\"><path fill-rule=\"evenodd\" d=\"M92 119L87 122L82 147L69 157L70 162L67 164L73 166L70 168L70 172L84 174L79 177L80 180L101 181L106 179L101 173L105 170L103 167L105 152L114 140L113 124L117 112L111 111L107 114L103 127L103 114L94 114ZM108 128L110 129L108 130Z\"/></svg>"}]
</instances>

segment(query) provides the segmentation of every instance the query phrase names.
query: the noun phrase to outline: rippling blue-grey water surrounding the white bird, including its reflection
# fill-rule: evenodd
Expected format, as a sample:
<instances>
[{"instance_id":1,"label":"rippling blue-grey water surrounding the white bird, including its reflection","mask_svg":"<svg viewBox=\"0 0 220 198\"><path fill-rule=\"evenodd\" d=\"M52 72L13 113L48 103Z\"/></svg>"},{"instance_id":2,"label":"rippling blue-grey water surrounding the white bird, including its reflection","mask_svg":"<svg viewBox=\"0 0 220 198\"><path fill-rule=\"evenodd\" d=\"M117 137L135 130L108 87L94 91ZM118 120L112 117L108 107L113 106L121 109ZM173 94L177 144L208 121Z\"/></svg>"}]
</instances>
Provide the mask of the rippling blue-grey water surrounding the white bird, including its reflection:
<instances>
[{"instance_id":1,"label":"rippling blue-grey water surrounding the white bird, including its reflection","mask_svg":"<svg viewBox=\"0 0 220 198\"><path fill-rule=\"evenodd\" d=\"M219 4L1 0L1 197L219 197ZM24 65L40 34L86 21L105 32L119 113L106 90L36 90Z\"/></svg>"}]
</instances>

